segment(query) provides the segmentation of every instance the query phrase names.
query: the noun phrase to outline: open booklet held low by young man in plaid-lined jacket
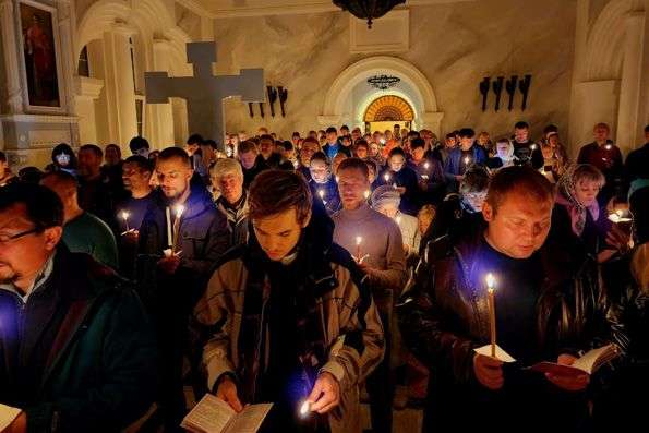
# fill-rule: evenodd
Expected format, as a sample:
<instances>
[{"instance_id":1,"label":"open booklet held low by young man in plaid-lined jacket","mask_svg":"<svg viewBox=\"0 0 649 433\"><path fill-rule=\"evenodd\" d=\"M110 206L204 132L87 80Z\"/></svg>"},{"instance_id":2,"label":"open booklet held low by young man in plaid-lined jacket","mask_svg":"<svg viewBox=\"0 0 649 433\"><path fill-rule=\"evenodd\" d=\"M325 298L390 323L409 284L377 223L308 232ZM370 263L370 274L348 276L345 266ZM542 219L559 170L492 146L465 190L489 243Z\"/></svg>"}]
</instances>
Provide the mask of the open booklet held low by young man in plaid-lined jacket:
<instances>
[{"instance_id":1,"label":"open booklet held low by young man in plaid-lined jacket","mask_svg":"<svg viewBox=\"0 0 649 433\"><path fill-rule=\"evenodd\" d=\"M195 433L256 433L272 407L273 404L249 405L237 413L220 398L206 394L180 426Z\"/></svg>"}]
</instances>

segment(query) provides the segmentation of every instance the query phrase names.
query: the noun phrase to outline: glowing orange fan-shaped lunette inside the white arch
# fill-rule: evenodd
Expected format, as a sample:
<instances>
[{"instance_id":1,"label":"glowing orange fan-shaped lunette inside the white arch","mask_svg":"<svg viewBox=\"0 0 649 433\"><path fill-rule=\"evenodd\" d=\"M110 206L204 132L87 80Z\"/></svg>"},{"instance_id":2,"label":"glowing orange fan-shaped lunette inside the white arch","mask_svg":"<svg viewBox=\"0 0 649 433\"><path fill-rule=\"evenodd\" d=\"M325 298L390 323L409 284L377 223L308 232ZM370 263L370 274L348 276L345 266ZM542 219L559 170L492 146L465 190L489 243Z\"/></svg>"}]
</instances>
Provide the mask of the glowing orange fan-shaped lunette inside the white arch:
<instances>
[{"instance_id":1,"label":"glowing orange fan-shaped lunette inside the white arch","mask_svg":"<svg viewBox=\"0 0 649 433\"><path fill-rule=\"evenodd\" d=\"M396 95L381 96L374 99L363 116L365 132L392 130L395 124L412 129L414 110L408 101Z\"/></svg>"}]
</instances>

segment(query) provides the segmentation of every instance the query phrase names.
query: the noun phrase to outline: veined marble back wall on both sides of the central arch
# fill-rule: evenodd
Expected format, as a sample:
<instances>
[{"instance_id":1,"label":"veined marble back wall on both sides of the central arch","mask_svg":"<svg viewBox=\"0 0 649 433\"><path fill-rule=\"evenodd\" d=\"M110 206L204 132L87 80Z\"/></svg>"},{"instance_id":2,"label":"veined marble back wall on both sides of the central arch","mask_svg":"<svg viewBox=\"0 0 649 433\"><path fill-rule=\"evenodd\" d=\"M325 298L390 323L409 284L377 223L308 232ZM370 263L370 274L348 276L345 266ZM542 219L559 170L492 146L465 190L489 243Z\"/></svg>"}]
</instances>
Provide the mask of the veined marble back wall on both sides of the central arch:
<instances>
[{"instance_id":1,"label":"veined marble back wall on both sides of the central arch","mask_svg":"<svg viewBox=\"0 0 649 433\"><path fill-rule=\"evenodd\" d=\"M567 132L574 58L576 0L477 0L410 10L410 48L399 57L430 81L444 112L442 132L472 125L492 135L509 133L517 120L538 135L546 123ZM494 13L497 11L497 13ZM349 15L319 14L215 20L217 73L264 68L273 85L289 88L287 117L251 119L236 98L226 101L228 131L266 125L287 136L319 128L326 93L348 65L372 53L349 51ZM481 110L483 76L530 73L528 109ZM267 110L266 110L267 111Z\"/></svg>"}]
</instances>

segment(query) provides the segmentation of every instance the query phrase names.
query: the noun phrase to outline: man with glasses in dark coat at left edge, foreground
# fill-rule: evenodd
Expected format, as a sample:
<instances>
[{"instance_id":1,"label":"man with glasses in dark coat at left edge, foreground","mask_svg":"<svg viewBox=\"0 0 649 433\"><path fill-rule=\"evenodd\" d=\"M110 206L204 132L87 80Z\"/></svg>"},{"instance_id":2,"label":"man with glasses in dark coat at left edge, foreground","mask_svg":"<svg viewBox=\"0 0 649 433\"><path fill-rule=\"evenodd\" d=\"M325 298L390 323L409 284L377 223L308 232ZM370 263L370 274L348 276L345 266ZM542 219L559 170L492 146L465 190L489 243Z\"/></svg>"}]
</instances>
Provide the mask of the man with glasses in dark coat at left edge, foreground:
<instances>
[{"instance_id":1,"label":"man with glasses in dark coat at left edge, foreground","mask_svg":"<svg viewBox=\"0 0 649 433\"><path fill-rule=\"evenodd\" d=\"M12 432L119 432L155 396L152 327L110 268L60 241L45 187L0 190L0 402Z\"/></svg>"}]
</instances>

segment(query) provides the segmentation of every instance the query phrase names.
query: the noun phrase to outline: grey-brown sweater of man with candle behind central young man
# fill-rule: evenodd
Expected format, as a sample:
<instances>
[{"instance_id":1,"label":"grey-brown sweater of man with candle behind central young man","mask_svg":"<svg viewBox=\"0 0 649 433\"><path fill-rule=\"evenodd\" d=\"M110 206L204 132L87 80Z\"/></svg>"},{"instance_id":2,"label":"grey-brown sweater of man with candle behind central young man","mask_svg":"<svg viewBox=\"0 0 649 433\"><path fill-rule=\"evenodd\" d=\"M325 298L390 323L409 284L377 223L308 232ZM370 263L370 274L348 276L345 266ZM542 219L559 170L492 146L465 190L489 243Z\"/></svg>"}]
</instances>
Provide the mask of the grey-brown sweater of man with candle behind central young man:
<instances>
[{"instance_id":1,"label":"grey-brown sweater of man with candle behind central young man","mask_svg":"<svg viewBox=\"0 0 649 433\"><path fill-rule=\"evenodd\" d=\"M334 242L357 255L356 238L362 237L361 256L372 269L368 273L375 296L392 290L398 298L406 284L406 255L397 224L362 204L358 209L341 209L332 216L336 228Z\"/></svg>"}]
</instances>

